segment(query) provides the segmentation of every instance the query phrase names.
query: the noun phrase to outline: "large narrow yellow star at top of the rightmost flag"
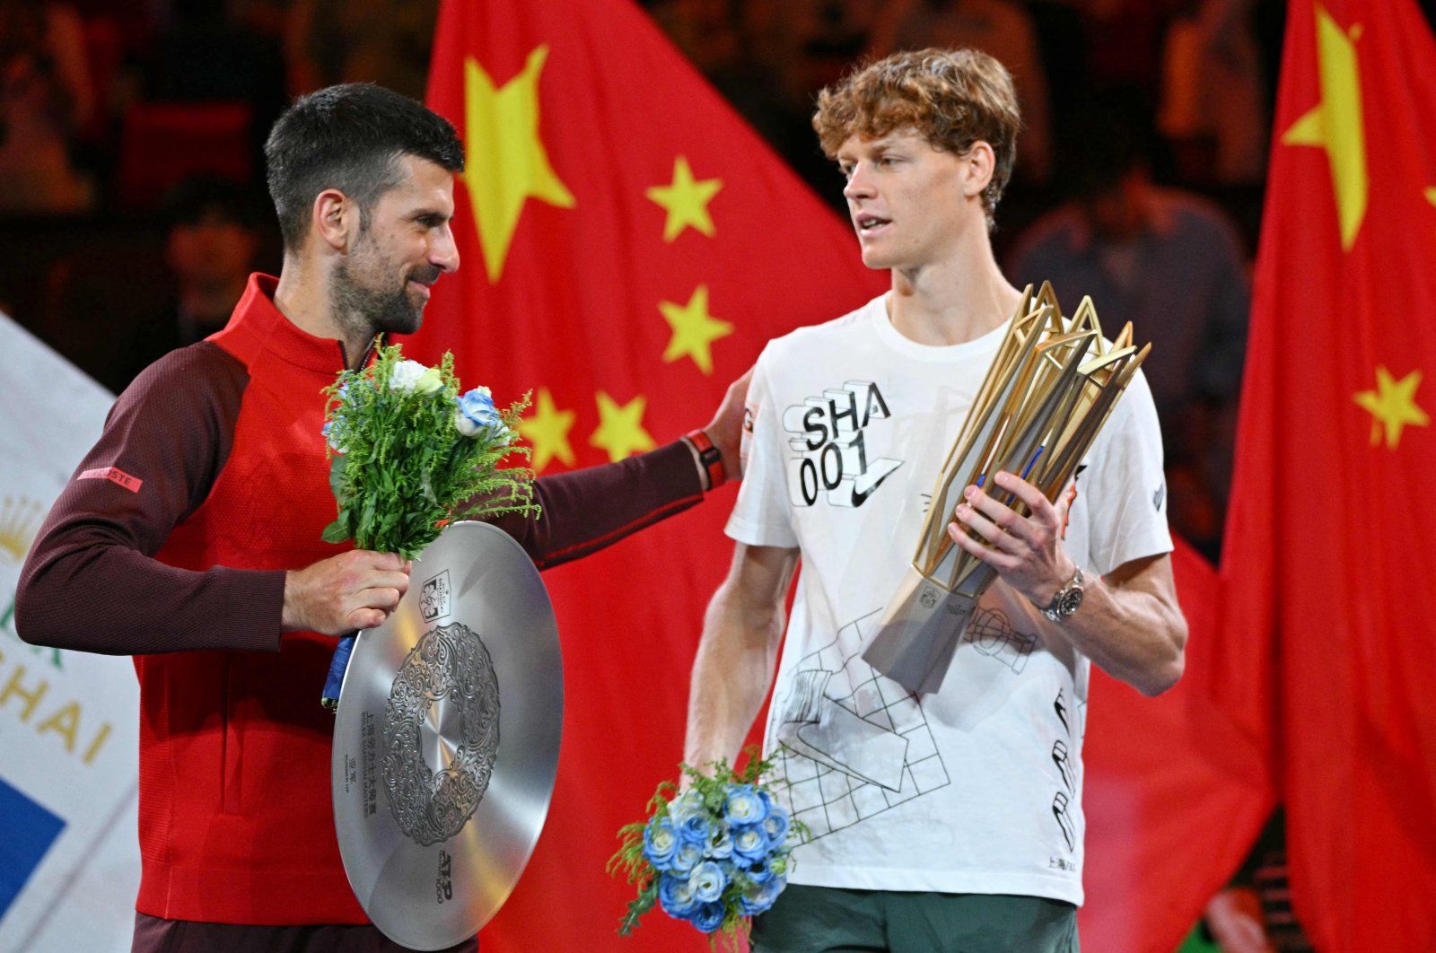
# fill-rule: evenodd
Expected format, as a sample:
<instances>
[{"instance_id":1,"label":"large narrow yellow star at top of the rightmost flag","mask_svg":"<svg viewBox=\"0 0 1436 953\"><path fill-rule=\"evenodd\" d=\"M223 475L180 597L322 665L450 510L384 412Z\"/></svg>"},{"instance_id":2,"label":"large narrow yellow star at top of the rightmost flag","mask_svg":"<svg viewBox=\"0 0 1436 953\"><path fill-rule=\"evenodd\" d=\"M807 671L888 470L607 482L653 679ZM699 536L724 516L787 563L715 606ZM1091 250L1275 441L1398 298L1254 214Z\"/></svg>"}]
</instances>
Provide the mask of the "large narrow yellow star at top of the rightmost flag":
<instances>
[{"instance_id":1,"label":"large narrow yellow star at top of the rightmost flag","mask_svg":"<svg viewBox=\"0 0 1436 953\"><path fill-rule=\"evenodd\" d=\"M1366 217L1366 128L1361 121L1361 73L1356 40L1361 27L1347 34L1321 4L1317 7L1317 69L1321 103L1282 133L1285 145L1314 145L1327 151L1331 188L1341 222L1341 248L1350 251Z\"/></svg>"}]
</instances>

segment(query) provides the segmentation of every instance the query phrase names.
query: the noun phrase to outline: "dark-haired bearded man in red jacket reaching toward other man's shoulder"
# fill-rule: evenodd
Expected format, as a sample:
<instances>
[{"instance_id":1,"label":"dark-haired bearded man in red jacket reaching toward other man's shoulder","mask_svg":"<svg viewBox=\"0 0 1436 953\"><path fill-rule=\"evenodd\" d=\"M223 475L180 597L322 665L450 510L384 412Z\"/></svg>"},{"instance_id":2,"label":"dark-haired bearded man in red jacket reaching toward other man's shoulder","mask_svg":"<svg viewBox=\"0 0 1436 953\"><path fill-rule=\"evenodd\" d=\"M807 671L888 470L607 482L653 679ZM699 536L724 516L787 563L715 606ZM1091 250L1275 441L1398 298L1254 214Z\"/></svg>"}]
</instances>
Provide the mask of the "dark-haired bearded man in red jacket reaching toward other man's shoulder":
<instances>
[{"instance_id":1,"label":"dark-haired bearded man in red jacket reaching toward other man's shoulder","mask_svg":"<svg viewBox=\"0 0 1436 953\"><path fill-rule=\"evenodd\" d=\"M30 553L16 624L135 656L135 950L398 950L345 877L316 692L333 636L381 624L408 565L320 541L335 502L319 392L376 334L416 330L458 268L464 152L418 102L349 85L294 103L266 156L280 277L251 276L224 330L121 395ZM740 383L705 431L541 478L543 521L498 525L547 567L691 507L738 472L741 408Z\"/></svg>"}]
</instances>

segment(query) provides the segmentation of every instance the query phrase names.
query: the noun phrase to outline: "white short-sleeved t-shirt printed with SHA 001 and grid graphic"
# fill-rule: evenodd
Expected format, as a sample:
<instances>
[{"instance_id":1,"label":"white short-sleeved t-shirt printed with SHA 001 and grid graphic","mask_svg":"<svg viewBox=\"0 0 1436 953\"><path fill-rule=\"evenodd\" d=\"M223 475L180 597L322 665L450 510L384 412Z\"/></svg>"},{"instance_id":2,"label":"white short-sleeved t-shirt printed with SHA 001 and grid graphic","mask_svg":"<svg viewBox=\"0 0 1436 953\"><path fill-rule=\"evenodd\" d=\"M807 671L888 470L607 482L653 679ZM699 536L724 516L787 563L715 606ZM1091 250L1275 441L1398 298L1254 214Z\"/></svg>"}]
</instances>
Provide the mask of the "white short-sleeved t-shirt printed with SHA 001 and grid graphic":
<instances>
[{"instance_id":1,"label":"white short-sleeved t-shirt printed with SHA 001 and grid graphic","mask_svg":"<svg viewBox=\"0 0 1436 953\"><path fill-rule=\"evenodd\" d=\"M801 550L764 742L811 837L793 883L1081 903L1087 659L1001 580L941 692L918 699L862 659L1005 333L918 344L883 296L758 359L727 531ZM1140 373L1077 472L1063 545L1091 574L1172 548Z\"/></svg>"}]
</instances>

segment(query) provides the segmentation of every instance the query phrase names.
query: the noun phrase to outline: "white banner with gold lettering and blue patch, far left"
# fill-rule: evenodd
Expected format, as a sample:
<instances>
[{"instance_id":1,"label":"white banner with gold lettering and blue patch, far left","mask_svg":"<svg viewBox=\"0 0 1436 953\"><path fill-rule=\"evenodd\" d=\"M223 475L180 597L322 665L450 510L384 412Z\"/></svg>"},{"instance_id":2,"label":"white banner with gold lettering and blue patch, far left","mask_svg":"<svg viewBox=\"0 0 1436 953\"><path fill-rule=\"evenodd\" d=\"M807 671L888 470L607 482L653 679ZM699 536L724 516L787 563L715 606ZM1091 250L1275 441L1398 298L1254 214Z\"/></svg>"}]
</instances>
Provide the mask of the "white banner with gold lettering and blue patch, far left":
<instances>
[{"instance_id":1,"label":"white banner with gold lettering and blue patch, far left","mask_svg":"<svg viewBox=\"0 0 1436 953\"><path fill-rule=\"evenodd\" d=\"M139 687L129 657L14 632L20 565L113 398L0 314L0 950L129 950Z\"/></svg>"}]
</instances>

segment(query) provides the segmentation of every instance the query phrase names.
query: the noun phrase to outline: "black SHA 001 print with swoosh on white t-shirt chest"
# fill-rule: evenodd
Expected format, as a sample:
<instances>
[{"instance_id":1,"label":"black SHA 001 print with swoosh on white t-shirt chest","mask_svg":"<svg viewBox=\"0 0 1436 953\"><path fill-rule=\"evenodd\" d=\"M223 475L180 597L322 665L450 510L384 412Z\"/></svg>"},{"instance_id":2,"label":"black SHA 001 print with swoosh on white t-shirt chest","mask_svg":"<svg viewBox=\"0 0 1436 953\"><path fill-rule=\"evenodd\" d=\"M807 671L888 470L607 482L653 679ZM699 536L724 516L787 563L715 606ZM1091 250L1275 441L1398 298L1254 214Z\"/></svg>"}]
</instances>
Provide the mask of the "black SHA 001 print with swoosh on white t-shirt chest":
<instances>
[{"instance_id":1,"label":"black SHA 001 print with swoosh on white t-shirt chest","mask_svg":"<svg viewBox=\"0 0 1436 953\"><path fill-rule=\"evenodd\" d=\"M866 429L892 416L877 385L849 380L820 396L783 410L788 448L788 499L811 507L826 499L833 507L862 507L902 461L867 456Z\"/></svg>"}]
</instances>

